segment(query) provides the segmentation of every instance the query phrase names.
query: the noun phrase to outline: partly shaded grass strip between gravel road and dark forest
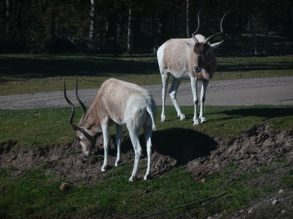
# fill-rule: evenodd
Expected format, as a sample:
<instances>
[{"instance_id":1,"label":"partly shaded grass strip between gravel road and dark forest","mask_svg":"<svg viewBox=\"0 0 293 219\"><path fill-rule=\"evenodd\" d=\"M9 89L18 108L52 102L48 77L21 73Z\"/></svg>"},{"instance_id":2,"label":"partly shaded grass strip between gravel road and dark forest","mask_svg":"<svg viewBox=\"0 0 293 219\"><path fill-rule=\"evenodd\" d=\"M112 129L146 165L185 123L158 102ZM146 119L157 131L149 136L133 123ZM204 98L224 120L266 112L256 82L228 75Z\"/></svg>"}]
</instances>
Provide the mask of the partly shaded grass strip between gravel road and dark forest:
<instances>
[{"instance_id":1,"label":"partly shaded grass strip between gravel road and dark forest","mask_svg":"<svg viewBox=\"0 0 293 219\"><path fill-rule=\"evenodd\" d=\"M293 55L217 60L213 81L293 75ZM151 55L0 54L0 95L61 91L63 77L67 88L74 89L76 74L79 89L99 88L111 77L138 85L161 84L157 58Z\"/></svg>"}]
</instances>

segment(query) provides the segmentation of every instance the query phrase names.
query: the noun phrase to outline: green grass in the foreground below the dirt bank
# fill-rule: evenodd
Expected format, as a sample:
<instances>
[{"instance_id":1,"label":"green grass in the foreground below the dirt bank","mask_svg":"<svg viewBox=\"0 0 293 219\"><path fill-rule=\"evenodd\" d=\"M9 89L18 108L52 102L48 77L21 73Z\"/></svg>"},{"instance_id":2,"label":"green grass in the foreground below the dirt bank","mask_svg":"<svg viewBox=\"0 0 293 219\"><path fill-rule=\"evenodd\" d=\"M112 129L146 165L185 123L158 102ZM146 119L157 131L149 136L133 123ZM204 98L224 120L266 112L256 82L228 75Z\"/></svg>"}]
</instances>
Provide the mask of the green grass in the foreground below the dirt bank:
<instances>
[{"instance_id":1,"label":"green grass in the foreground below the dirt bank","mask_svg":"<svg viewBox=\"0 0 293 219\"><path fill-rule=\"evenodd\" d=\"M197 216L216 214L229 209L230 213L246 206L252 198L269 192L271 187L251 188L244 186L249 177L225 183L230 173L226 171L214 176L206 176L205 183L195 182L182 167L172 169L164 178L152 181L137 180L127 182L129 165L114 168L107 174L107 181L93 187L75 186L70 190L60 190L62 179L43 169L26 170L21 175L10 175L12 169L1 170L0 175L0 217L1 218L97 218L115 215L148 215L158 209L175 208L205 199L222 192L228 193L200 208ZM237 167L233 167L237 168ZM147 191L147 192L146 192ZM133 205L135 203L135 205ZM182 214L195 207L189 206L171 211Z\"/></svg>"}]
</instances>

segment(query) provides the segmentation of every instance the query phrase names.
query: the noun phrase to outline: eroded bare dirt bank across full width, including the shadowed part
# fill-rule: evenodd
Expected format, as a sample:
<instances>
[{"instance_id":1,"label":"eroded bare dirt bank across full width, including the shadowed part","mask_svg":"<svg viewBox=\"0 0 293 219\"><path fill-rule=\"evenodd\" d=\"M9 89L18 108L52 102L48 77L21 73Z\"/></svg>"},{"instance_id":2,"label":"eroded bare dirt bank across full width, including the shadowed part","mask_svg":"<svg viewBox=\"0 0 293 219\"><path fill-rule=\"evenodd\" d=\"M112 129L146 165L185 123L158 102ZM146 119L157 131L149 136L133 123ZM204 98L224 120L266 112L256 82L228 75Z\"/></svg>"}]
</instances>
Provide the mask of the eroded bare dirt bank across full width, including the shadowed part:
<instances>
[{"instance_id":1,"label":"eroded bare dirt bank across full width, including the shadowed part","mask_svg":"<svg viewBox=\"0 0 293 219\"><path fill-rule=\"evenodd\" d=\"M194 139L179 140L176 136L182 136L183 133L193 135ZM264 124L244 131L240 138L224 144L220 138L211 139L190 129L156 131L152 140L152 176L157 178L172 167L181 165L186 165L186 169L197 179L203 175L222 172L231 163L237 166L237 172L243 172L251 168L259 171L263 166L273 165L272 161L281 157L292 162L292 133L290 129L275 134L268 128L268 124ZM114 141L113 138L110 140L110 167L116 160L117 150ZM147 164L143 136L140 136L140 141L143 147L140 164ZM104 179L104 174L100 171L104 159L102 137L97 140L97 146L93 151L95 156L90 159L82 156L78 142L59 147L38 148L14 147L15 144L16 142L9 142L0 145L0 168L13 167L16 171L21 171L25 168L44 166L60 178L71 182L90 180L88 184ZM121 151L123 164L133 165L134 152L130 138L122 142ZM141 179L144 174L139 173L138 178Z\"/></svg>"}]
</instances>

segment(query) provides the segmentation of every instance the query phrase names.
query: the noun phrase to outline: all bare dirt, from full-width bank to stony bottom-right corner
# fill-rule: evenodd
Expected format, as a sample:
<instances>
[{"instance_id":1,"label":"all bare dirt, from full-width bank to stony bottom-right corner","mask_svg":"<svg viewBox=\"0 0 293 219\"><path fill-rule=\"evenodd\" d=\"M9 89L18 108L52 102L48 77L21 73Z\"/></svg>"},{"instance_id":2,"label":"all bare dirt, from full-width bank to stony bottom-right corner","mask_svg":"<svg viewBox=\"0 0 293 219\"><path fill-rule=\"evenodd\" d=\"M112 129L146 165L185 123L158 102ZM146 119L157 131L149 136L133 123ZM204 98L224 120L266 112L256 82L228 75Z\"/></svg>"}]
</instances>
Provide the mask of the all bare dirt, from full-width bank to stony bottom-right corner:
<instances>
[{"instance_id":1,"label":"all bare dirt, from full-width bank to stony bottom-right corner","mask_svg":"<svg viewBox=\"0 0 293 219\"><path fill-rule=\"evenodd\" d=\"M187 133L186 133L187 132ZM178 140L178 136L194 136L194 140ZM143 156L140 164L147 164L143 136L141 137ZM112 167L116 159L115 139L110 141L109 164ZM153 134L152 178L159 178L175 166L185 165L195 180L204 175L220 173L229 164L236 167L234 173L226 179L235 180L243 172L259 172L263 167L271 168L270 174L259 174L250 180L246 186L271 186L273 192L260 200L251 201L249 208L243 208L229 215L229 218L286 218L286 212L293 208L293 185L282 188L280 178L286 174L293 164L293 128L274 133L268 124L244 131L241 136L228 144L221 138L211 139L202 133L174 128L168 131L156 131ZM172 144L171 144L172 142ZM95 182L106 180L106 175L100 171L103 164L103 139L97 141L93 151L95 156L84 159L78 142L59 147L47 146L39 148L14 147L16 142L0 145L0 168L13 167L18 175L25 168L44 167L52 171L58 179L65 179L74 184L93 185ZM274 159L285 159L287 168ZM123 164L133 165L134 152L130 139L122 143ZM111 166L112 165L112 166ZM139 170L138 180L143 180L146 169ZM129 176L131 171L129 171ZM282 190L283 189L283 190ZM279 191L282 190L280 193ZM277 200L277 201L274 201ZM275 202L275 204L273 204ZM292 212L292 211L291 211ZM284 215L285 217L282 217ZM211 215L210 218L219 218Z\"/></svg>"}]
</instances>

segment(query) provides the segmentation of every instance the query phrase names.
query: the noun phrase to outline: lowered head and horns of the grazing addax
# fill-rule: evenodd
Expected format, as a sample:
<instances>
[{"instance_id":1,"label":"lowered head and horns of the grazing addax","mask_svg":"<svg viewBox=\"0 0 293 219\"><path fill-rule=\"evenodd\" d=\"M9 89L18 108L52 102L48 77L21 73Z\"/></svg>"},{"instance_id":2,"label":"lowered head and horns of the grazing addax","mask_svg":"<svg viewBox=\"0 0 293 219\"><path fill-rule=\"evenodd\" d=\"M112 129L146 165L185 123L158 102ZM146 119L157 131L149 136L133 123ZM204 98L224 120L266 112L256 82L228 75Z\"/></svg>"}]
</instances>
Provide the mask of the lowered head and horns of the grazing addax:
<instances>
[{"instance_id":1,"label":"lowered head and horns of the grazing addax","mask_svg":"<svg viewBox=\"0 0 293 219\"><path fill-rule=\"evenodd\" d=\"M76 86L75 86L75 96L83 109L83 114L82 114L81 120L79 121L78 126L72 123L75 109L74 109L74 105L67 98L64 78L63 78L63 84L64 84L64 97L72 109L69 123L70 123L70 126L75 131L76 140L78 140L79 143L81 144L81 150L82 150L84 157L87 158L87 157L91 156L91 152L93 151L93 149L96 145L96 140L97 140L98 135L100 135L100 133L96 133L95 131L85 129L82 126L82 124L84 123L84 116L86 114L86 107L84 106L84 103L81 102L81 100L79 99L78 94L77 94L77 77L76 77Z\"/></svg>"}]
</instances>

